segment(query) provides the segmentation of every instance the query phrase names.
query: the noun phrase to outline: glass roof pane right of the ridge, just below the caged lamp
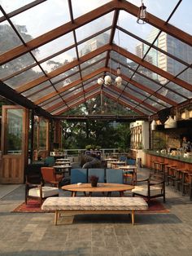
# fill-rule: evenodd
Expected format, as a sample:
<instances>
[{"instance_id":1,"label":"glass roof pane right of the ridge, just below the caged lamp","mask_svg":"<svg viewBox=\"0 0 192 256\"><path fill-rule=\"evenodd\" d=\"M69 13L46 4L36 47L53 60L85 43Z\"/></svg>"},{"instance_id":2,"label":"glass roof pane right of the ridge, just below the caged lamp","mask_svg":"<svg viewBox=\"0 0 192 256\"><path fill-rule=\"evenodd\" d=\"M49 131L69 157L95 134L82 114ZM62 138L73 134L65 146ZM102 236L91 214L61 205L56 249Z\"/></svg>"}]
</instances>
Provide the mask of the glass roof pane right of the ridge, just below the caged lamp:
<instances>
[{"instance_id":1,"label":"glass roof pane right of the ridge, just below the caged lamp","mask_svg":"<svg viewBox=\"0 0 192 256\"><path fill-rule=\"evenodd\" d=\"M141 2L140 2L141 5ZM137 35L138 37L146 40L147 42L153 42L157 33L153 31L153 26L150 24L145 24L141 26L141 24L137 24L137 17L130 15L126 11L120 11L118 24L123 29L128 30L130 33ZM127 46L129 51L129 46Z\"/></svg>"}]
</instances>

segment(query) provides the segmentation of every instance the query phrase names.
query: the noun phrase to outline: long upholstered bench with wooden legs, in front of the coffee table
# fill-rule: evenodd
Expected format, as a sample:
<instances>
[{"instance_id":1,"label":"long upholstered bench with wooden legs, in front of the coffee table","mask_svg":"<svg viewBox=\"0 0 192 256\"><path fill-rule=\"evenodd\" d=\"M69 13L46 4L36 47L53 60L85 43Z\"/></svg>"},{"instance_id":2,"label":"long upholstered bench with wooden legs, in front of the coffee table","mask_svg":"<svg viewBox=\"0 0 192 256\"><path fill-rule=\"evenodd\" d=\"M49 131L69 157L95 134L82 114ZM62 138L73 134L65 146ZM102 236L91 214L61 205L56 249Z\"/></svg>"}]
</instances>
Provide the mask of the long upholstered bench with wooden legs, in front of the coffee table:
<instances>
[{"instance_id":1,"label":"long upholstered bench with wooden legs, in front of the coffee table","mask_svg":"<svg viewBox=\"0 0 192 256\"><path fill-rule=\"evenodd\" d=\"M55 225L59 213L64 214L132 214L147 210L148 205L141 197L50 197L41 205L42 210L55 210Z\"/></svg>"}]
</instances>

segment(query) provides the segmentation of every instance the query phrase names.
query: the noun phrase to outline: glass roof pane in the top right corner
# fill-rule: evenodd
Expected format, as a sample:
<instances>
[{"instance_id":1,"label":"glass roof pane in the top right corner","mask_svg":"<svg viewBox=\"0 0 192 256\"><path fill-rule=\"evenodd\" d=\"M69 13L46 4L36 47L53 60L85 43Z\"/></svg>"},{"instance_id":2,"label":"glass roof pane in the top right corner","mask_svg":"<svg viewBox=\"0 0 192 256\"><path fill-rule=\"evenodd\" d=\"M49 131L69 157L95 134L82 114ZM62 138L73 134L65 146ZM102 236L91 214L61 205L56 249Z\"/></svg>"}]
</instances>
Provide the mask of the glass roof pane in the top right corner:
<instances>
[{"instance_id":1,"label":"glass roof pane in the top right corner","mask_svg":"<svg viewBox=\"0 0 192 256\"><path fill-rule=\"evenodd\" d=\"M172 15L170 24L173 24L177 28L185 31L186 33L192 33L192 24L191 24L191 10L192 2L190 0L182 1L177 11Z\"/></svg>"}]
</instances>

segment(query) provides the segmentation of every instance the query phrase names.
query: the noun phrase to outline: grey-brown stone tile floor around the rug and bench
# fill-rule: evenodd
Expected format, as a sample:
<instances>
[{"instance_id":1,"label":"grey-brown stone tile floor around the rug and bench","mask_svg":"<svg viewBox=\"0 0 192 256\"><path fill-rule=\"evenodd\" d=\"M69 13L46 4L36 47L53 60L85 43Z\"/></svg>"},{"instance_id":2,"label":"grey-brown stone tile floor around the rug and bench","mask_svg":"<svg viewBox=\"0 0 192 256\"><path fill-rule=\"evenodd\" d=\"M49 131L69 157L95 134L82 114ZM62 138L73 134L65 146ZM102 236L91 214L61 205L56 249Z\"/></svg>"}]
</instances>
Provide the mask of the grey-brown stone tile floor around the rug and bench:
<instances>
[{"instance_id":1,"label":"grey-brown stone tile floor around the rug and bench","mask_svg":"<svg viewBox=\"0 0 192 256\"><path fill-rule=\"evenodd\" d=\"M1 256L192 255L192 204L173 188L167 187L170 213L137 214L134 226L126 215L80 215L55 227L51 213L11 213L24 201L24 185L0 185L0 196Z\"/></svg>"}]
</instances>

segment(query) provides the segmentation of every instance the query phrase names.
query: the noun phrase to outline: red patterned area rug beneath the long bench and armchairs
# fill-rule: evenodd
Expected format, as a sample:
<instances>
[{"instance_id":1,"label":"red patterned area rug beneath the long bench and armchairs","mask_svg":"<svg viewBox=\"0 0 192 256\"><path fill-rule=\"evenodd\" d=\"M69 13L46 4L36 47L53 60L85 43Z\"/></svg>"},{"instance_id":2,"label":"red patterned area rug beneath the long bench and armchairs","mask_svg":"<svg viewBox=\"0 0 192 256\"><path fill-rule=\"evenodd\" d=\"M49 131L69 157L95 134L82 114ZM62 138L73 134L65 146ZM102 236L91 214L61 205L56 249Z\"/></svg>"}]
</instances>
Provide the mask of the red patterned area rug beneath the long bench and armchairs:
<instances>
[{"instance_id":1,"label":"red patterned area rug beneath the long bench and armchairs","mask_svg":"<svg viewBox=\"0 0 192 256\"><path fill-rule=\"evenodd\" d=\"M41 210L41 205L37 200L28 200L28 204L22 203L15 208L12 212L15 213L47 213L54 212L50 210ZM170 211L158 200L151 200L148 210L137 211L137 213L155 214L155 213L169 213Z\"/></svg>"}]
</instances>

